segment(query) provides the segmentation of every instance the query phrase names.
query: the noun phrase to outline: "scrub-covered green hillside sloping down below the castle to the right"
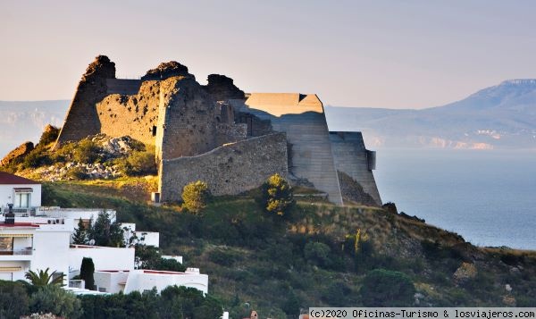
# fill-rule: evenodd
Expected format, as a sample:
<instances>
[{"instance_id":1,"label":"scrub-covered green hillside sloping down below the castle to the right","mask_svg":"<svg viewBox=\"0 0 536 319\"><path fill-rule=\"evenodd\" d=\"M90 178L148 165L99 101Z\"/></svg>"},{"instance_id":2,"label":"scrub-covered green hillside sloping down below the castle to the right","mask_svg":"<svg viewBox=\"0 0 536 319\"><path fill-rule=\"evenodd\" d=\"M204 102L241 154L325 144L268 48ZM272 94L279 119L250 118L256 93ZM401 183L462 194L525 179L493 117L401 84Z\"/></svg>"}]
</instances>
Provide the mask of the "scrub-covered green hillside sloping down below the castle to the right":
<instances>
[{"instance_id":1,"label":"scrub-covered green hillside sloping down below the castle to the right","mask_svg":"<svg viewBox=\"0 0 536 319\"><path fill-rule=\"evenodd\" d=\"M231 317L252 308L284 317L308 306L373 305L364 293L385 292L370 290L369 281L398 285L390 305L536 305L534 253L475 248L456 234L397 214L394 206L298 200L289 218L281 219L266 214L256 195L245 194L215 197L202 214L185 214L179 206L148 206L129 196L125 185L46 183L44 205L116 209L120 222L160 231L163 252L184 256L207 273L209 295ZM476 273L464 272L464 264L473 264Z\"/></svg>"}]
</instances>

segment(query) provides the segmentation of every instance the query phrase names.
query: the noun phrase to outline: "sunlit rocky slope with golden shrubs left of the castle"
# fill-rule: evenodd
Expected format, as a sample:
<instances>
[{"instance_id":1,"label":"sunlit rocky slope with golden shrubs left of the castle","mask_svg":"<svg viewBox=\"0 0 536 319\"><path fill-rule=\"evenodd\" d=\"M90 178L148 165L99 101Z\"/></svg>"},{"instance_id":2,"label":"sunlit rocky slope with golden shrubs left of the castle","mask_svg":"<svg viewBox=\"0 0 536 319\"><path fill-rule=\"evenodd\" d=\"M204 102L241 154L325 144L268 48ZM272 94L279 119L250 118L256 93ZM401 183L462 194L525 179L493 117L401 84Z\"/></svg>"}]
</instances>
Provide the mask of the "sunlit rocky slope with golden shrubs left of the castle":
<instances>
[{"instance_id":1,"label":"sunlit rocky slope with golden shrubs left of the castle","mask_svg":"<svg viewBox=\"0 0 536 319\"><path fill-rule=\"evenodd\" d=\"M22 143L0 161L0 170L38 180L96 180L156 173L155 152L128 136L96 135L54 149L59 129L46 126L37 145Z\"/></svg>"}]
</instances>

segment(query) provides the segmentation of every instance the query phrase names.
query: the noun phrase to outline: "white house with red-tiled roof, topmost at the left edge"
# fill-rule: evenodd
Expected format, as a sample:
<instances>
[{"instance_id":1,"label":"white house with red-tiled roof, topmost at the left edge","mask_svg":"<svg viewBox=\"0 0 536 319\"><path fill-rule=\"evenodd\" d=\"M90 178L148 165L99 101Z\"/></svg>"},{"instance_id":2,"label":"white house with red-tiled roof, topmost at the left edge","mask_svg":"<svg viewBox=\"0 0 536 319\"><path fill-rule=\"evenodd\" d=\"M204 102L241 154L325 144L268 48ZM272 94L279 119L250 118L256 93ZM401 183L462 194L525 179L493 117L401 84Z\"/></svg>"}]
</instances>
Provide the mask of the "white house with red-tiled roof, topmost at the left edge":
<instances>
[{"instance_id":1,"label":"white house with red-tiled roof, topmost at the left edge","mask_svg":"<svg viewBox=\"0 0 536 319\"><path fill-rule=\"evenodd\" d=\"M41 206L41 184L9 172L0 172L0 208L4 213L8 204L15 212Z\"/></svg>"}]
</instances>

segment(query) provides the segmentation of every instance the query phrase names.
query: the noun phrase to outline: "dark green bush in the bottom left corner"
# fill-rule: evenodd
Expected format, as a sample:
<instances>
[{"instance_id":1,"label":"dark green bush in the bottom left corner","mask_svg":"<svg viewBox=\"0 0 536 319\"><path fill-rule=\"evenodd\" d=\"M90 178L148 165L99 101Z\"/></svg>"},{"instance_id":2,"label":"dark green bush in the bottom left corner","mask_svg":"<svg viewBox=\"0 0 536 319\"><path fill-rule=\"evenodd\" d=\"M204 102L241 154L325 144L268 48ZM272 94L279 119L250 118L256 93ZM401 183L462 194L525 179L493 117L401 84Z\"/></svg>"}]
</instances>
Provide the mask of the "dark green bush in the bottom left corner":
<instances>
[{"instance_id":1,"label":"dark green bush in the bottom left corner","mask_svg":"<svg viewBox=\"0 0 536 319\"><path fill-rule=\"evenodd\" d=\"M20 282L0 281L0 318L18 319L28 314L29 298Z\"/></svg>"}]
</instances>

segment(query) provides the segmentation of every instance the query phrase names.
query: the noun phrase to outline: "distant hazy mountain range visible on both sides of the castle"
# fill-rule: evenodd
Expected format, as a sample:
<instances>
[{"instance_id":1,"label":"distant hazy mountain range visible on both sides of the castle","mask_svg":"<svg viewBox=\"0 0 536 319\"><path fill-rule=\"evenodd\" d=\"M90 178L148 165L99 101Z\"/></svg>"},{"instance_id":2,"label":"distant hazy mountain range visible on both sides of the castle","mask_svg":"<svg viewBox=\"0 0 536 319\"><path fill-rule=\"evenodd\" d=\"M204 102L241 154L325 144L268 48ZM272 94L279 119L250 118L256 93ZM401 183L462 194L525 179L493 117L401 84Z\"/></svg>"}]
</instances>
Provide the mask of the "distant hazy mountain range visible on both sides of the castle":
<instances>
[{"instance_id":1,"label":"distant hazy mountain range visible on both sides of the castle","mask_svg":"<svg viewBox=\"0 0 536 319\"><path fill-rule=\"evenodd\" d=\"M63 124L70 101L0 101L0 157ZM421 110L326 106L330 130L361 130L367 147L536 149L536 80L507 80Z\"/></svg>"}]
</instances>

